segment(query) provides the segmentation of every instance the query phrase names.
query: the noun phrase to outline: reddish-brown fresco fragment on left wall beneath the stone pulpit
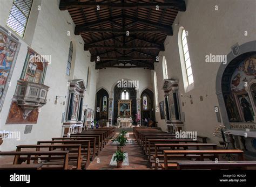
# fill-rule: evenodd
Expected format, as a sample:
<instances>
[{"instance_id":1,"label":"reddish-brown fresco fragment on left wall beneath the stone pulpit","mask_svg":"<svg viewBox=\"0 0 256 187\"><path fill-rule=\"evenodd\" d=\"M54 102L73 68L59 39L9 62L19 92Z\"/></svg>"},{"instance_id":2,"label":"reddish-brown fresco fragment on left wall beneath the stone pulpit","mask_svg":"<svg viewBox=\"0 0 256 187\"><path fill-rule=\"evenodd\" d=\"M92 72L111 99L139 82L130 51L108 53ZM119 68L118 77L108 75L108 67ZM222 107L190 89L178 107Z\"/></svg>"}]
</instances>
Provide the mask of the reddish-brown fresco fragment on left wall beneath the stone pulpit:
<instances>
[{"instance_id":1,"label":"reddish-brown fresco fragment on left wall beneath the stone pulpit","mask_svg":"<svg viewBox=\"0 0 256 187\"><path fill-rule=\"evenodd\" d=\"M12 102L6 124L36 124L38 114L39 112L35 109L24 119L21 107L16 102Z\"/></svg>"}]
</instances>

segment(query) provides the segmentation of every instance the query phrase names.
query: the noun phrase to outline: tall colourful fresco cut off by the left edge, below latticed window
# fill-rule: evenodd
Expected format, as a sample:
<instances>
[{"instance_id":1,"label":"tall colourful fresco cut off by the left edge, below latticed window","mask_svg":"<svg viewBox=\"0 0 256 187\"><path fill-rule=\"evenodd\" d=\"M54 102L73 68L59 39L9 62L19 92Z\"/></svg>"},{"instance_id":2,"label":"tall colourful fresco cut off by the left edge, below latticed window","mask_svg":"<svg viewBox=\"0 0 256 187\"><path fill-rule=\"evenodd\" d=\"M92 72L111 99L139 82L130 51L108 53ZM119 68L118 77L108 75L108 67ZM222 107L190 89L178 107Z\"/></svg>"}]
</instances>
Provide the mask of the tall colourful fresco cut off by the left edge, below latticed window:
<instances>
[{"instance_id":1,"label":"tall colourful fresco cut off by the left edge, below latticed window","mask_svg":"<svg viewBox=\"0 0 256 187\"><path fill-rule=\"evenodd\" d=\"M10 86L12 71L14 71L20 46L21 43L18 38L12 34L9 35L8 31L0 26L0 111Z\"/></svg>"}]
</instances>

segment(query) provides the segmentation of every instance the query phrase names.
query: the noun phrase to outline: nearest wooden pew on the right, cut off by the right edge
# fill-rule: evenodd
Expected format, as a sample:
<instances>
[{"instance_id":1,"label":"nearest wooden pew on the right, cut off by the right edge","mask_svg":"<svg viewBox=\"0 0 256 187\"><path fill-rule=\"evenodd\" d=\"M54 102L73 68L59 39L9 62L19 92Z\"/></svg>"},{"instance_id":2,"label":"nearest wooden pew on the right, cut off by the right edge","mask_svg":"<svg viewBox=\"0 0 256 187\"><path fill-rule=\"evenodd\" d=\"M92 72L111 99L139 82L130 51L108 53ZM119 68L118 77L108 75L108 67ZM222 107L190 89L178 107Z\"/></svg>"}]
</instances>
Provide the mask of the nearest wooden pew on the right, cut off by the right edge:
<instances>
[{"instance_id":1,"label":"nearest wooden pew on the right, cut off by the right edge","mask_svg":"<svg viewBox=\"0 0 256 187\"><path fill-rule=\"evenodd\" d=\"M177 162L177 169L248 169L256 167L256 161L192 161Z\"/></svg>"}]
</instances>

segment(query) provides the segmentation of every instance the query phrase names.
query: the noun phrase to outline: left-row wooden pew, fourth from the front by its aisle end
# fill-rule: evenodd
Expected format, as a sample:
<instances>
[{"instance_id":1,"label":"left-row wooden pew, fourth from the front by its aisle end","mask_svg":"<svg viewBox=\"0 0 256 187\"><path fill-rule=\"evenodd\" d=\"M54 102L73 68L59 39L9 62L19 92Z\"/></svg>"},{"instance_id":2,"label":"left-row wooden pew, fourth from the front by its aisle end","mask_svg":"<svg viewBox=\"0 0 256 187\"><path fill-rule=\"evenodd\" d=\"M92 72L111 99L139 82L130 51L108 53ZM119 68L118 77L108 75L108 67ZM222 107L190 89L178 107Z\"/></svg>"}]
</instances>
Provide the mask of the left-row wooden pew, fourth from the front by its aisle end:
<instances>
[{"instance_id":1,"label":"left-row wooden pew, fourth from the front by its aisle end","mask_svg":"<svg viewBox=\"0 0 256 187\"><path fill-rule=\"evenodd\" d=\"M73 137L73 138L52 138L51 140L90 140L90 160L93 161L96 156L96 143L99 146L99 142L96 142L96 137Z\"/></svg>"}]
</instances>

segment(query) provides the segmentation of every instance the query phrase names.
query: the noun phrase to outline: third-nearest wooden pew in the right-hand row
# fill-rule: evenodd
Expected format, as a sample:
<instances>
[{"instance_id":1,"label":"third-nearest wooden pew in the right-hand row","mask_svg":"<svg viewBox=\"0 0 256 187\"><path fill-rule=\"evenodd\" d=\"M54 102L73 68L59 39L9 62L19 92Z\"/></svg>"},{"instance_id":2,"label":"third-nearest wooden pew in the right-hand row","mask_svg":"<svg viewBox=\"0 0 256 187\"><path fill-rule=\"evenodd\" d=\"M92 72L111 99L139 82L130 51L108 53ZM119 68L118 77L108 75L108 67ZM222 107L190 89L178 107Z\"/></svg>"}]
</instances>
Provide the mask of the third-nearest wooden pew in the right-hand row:
<instances>
[{"instance_id":1,"label":"third-nearest wooden pew in the right-hand row","mask_svg":"<svg viewBox=\"0 0 256 187\"><path fill-rule=\"evenodd\" d=\"M149 163L150 166L152 167L152 163L154 162L154 167L155 169L158 169L158 163L160 163L161 161L164 161L164 150L169 150L169 149L190 149L191 148L196 148L197 150L199 150L200 148L204 148L207 149L216 149L217 148L217 144L214 143L155 143L156 141L152 141L150 140L150 145L154 145L154 154L151 154L151 147L149 147ZM153 157L153 161L151 161L151 157ZM185 156L184 155L184 159L191 159L191 158L197 158L198 156ZM212 156L209 156L209 158L214 159ZM156 160L158 159L158 160ZM157 162L158 161L158 162Z\"/></svg>"}]
</instances>

